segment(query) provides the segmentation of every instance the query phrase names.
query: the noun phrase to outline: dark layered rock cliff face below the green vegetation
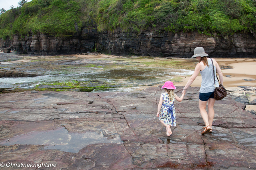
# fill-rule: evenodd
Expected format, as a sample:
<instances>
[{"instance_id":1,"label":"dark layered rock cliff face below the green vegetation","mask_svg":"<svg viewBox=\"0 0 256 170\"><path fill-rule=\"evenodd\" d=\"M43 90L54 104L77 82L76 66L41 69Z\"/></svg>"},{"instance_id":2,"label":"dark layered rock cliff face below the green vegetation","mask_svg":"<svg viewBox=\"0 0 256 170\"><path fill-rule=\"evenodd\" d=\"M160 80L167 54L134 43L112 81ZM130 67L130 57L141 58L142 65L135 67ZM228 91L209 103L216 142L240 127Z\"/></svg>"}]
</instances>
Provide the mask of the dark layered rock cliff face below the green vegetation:
<instances>
[{"instance_id":1,"label":"dark layered rock cliff face below the green vegetation","mask_svg":"<svg viewBox=\"0 0 256 170\"><path fill-rule=\"evenodd\" d=\"M43 34L25 38L14 35L13 45L20 53L33 54L83 53L94 50L96 46L97 51L115 55L191 57L194 48L202 46L211 57L256 56L256 38L249 33L236 33L228 39L208 37L197 32L157 33L148 30L136 35L119 29L98 32L96 25L65 38Z\"/></svg>"}]
</instances>

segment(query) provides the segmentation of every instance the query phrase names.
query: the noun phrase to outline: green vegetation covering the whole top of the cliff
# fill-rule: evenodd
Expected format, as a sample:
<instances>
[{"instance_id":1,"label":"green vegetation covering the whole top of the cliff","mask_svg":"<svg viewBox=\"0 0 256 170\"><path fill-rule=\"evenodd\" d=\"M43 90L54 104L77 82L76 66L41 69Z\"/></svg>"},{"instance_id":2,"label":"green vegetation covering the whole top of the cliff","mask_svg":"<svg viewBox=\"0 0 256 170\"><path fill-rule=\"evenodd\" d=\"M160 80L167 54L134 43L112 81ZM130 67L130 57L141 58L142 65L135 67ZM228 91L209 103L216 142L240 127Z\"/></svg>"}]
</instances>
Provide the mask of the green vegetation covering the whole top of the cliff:
<instances>
[{"instance_id":1,"label":"green vegetation covering the whole top of the cliff","mask_svg":"<svg viewBox=\"0 0 256 170\"><path fill-rule=\"evenodd\" d=\"M99 31L198 31L228 36L256 32L254 0L32 0L0 15L0 38L46 33L70 36L91 19Z\"/></svg>"}]
</instances>

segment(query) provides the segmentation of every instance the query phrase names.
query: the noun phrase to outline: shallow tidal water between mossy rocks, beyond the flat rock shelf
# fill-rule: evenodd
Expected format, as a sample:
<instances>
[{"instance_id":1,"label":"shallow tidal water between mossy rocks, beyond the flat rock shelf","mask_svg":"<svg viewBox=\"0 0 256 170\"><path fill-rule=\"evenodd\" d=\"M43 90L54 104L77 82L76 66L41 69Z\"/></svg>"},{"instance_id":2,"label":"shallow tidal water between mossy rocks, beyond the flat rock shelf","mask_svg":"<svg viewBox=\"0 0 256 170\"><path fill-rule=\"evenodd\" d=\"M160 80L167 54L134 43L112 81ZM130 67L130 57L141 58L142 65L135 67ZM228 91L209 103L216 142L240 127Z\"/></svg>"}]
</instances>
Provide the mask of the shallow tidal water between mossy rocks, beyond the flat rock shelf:
<instances>
[{"instance_id":1,"label":"shallow tidal water between mossy rocks, beyond the flat rock shelf","mask_svg":"<svg viewBox=\"0 0 256 170\"><path fill-rule=\"evenodd\" d=\"M60 70L60 73L62 71ZM72 72L72 70L71 70ZM14 85L17 84L19 88L30 89L40 83L54 83L54 82L69 82L69 81L90 81L98 80L104 82L111 82L117 84L128 85L129 87L136 87L140 85L154 85L171 80L180 75L191 75L193 71L185 69L165 69L165 68L112 68L112 69L91 69L91 72L86 70L85 73L71 73L71 74L55 74L55 75L41 75L37 77L7 77L0 78L0 84ZM117 88L115 91L121 89Z\"/></svg>"}]
</instances>

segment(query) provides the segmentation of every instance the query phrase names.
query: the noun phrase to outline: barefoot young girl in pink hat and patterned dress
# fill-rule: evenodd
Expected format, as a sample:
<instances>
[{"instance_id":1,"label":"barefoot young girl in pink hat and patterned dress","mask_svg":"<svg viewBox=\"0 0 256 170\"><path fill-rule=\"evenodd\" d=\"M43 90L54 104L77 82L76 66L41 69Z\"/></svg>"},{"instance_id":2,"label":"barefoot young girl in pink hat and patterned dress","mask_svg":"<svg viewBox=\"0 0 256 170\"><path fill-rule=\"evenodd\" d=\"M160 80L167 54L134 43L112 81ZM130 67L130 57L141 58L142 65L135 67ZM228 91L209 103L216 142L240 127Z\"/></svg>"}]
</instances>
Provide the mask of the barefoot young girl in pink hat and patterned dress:
<instances>
[{"instance_id":1,"label":"barefoot young girl in pink hat and patterned dress","mask_svg":"<svg viewBox=\"0 0 256 170\"><path fill-rule=\"evenodd\" d=\"M156 116L159 117L160 122L166 127L166 135L170 136L172 133L171 126L176 126L176 114L173 106L174 99L181 102L185 92L182 93L180 98L177 97L174 93L176 87L171 81L166 81L162 89L165 89L165 93L161 94Z\"/></svg>"}]
</instances>

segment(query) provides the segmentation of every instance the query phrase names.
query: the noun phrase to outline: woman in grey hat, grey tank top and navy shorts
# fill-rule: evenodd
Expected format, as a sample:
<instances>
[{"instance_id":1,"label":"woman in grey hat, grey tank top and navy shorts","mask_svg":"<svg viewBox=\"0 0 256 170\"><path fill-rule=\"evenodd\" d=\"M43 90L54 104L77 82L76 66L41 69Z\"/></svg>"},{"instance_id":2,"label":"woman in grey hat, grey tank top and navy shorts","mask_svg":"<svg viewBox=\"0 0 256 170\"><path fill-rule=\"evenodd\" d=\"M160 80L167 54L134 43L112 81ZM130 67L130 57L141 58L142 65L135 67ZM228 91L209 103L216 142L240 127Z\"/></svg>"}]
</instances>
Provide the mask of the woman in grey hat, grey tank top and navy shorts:
<instances>
[{"instance_id":1,"label":"woman in grey hat, grey tank top and navy shorts","mask_svg":"<svg viewBox=\"0 0 256 170\"><path fill-rule=\"evenodd\" d=\"M194 55L192 56L192 58L196 57L199 63L195 67L195 71L193 75L189 78L189 81L187 81L187 84L185 85L182 91L183 93L187 90L187 88L193 83L198 73L200 72L202 75L202 83L199 91L199 109L200 109L200 113L203 118L203 121L205 122L205 127L203 127L204 130L201 134L212 132L212 124L213 124L213 117L214 117L213 106L216 101L213 95L214 95L215 85L216 87L219 87L216 71L219 74L221 84L223 84L223 75L221 72L221 68L219 67L219 64L214 59L212 59L213 60L213 64L212 64L211 59L207 58L206 56L208 56L208 54L205 53L205 50L203 49L203 47L195 48ZM215 71L215 82L216 82L215 85L214 85L214 79L213 79L213 65L214 65L214 71ZM209 116L207 115L207 112L205 110L207 102L208 102Z\"/></svg>"}]
</instances>

